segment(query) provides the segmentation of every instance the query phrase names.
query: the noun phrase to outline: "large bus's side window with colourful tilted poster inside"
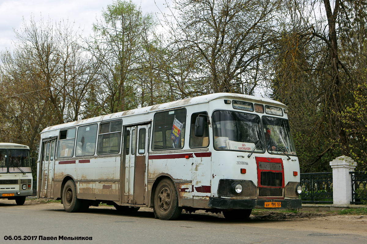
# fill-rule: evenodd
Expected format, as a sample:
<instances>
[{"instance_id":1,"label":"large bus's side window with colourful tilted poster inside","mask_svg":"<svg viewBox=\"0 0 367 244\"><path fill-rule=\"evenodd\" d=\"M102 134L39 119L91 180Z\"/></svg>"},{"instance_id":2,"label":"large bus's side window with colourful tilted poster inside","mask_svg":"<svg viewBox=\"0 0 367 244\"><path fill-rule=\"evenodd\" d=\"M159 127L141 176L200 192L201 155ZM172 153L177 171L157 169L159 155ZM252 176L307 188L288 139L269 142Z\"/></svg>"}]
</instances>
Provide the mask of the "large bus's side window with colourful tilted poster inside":
<instances>
[{"instance_id":1,"label":"large bus's side window with colourful tilted poster inside","mask_svg":"<svg viewBox=\"0 0 367 244\"><path fill-rule=\"evenodd\" d=\"M181 149L185 142L186 109L154 114L152 150Z\"/></svg>"}]
</instances>

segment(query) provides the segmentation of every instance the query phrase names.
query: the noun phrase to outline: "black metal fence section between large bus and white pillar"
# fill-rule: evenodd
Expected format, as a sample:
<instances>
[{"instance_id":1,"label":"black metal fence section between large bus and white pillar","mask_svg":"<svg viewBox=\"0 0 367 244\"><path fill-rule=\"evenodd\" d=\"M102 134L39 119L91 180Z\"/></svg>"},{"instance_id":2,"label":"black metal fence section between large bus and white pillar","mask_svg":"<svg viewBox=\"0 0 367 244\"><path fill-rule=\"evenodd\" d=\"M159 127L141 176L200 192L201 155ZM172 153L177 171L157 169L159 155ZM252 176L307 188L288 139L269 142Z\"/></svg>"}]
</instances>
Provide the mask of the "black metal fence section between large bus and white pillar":
<instances>
[{"instance_id":1,"label":"black metal fence section between large bus and white pillar","mask_svg":"<svg viewBox=\"0 0 367 244\"><path fill-rule=\"evenodd\" d=\"M300 174L302 203L333 203L333 172Z\"/></svg>"}]
</instances>

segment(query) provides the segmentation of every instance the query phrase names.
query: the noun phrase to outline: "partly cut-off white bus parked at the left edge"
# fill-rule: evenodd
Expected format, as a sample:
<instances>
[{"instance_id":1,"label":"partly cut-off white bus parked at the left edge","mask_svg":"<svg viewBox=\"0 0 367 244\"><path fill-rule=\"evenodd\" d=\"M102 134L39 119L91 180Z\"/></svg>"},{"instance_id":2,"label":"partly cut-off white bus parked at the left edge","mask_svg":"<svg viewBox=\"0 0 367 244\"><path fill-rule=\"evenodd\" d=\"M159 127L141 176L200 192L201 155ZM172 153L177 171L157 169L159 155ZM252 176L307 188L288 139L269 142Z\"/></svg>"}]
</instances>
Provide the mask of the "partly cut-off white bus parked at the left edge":
<instances>
[{"instance_id":1,"label":"partly cut-off white bus parked at the left edge","mask_svg":"<svg viewBox=\"0 0 367 244\"><path fill-rule=\"evenodd\" d=\"M29 147L0 142L0 199L23 205L25 197L33 194L32 182Z\"/></svg>"}]
</instances>

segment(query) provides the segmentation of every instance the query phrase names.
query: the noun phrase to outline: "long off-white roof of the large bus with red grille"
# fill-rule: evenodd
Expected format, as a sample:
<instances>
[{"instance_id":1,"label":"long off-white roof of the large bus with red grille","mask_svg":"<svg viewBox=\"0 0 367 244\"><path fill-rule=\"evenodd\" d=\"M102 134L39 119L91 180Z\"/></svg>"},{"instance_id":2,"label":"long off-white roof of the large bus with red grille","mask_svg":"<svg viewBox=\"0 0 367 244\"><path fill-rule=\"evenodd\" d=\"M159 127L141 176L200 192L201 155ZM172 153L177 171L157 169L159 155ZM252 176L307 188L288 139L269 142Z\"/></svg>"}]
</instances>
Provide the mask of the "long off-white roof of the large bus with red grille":
<instances>
[{"instance_id":1,"label":"long off-white roof of the large bus with red grille","mask_svg":"<svg viewBox=\"0 0 367 244\"><path fill-rule=\"evenodd\" d=\"M166 102L166 103L161 103L161 104L152 105L148 107L126 110L123 112L106 114L106 115L93 117L89 119L77 120L77 121L73 121L73 122L69 122L65 124L53 125L53 126L45 128L41 132L41 134L47 131L58 130L60 128L73 127L75 125L80 125L80 124L89 124L89 123L94 123L94 122L102 121L102 120L117 119L121 117L138 115L138 114L147 114L147 113L156 112L159 110L180 108L185 105L195 105L195 104L200 104L200 103L207 103L214 99L220 99L220 98L246 99L247 101L269 103L269 104L278 105L278 106L280 105L280 106L287 108L287 106L284 105L283 103L272 100L272 99L268 99L268 98L261 98L258 96L222 92L222 93L213 93L213 94L202 95L202 96L195 96L193 98L186 98L186 99L182 99L178 101Z\"/></svg>"}]
</instances>

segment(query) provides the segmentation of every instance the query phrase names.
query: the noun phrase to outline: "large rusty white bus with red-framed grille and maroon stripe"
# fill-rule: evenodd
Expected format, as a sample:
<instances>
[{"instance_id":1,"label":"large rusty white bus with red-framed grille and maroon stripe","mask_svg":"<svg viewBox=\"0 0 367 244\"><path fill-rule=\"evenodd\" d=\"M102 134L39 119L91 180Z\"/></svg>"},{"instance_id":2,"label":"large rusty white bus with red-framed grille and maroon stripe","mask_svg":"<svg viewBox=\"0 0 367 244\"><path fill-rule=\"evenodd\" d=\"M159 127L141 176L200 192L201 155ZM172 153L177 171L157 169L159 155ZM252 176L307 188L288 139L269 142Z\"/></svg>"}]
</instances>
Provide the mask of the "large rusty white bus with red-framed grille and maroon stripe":
<instances>
[{"instance_id":1,"label":"large rusty white bus with red-framed grille and maroon stripe","mask_svg":"<svg viewBox=\"0 0 367 244\"><path fill-rule=\"evenodd\" d=\"M182 209L246 219L254 208L301 208L299 163L280 102L218 93L48 127L37 196L66 211Z\"/></svg>"}]
</instances>

